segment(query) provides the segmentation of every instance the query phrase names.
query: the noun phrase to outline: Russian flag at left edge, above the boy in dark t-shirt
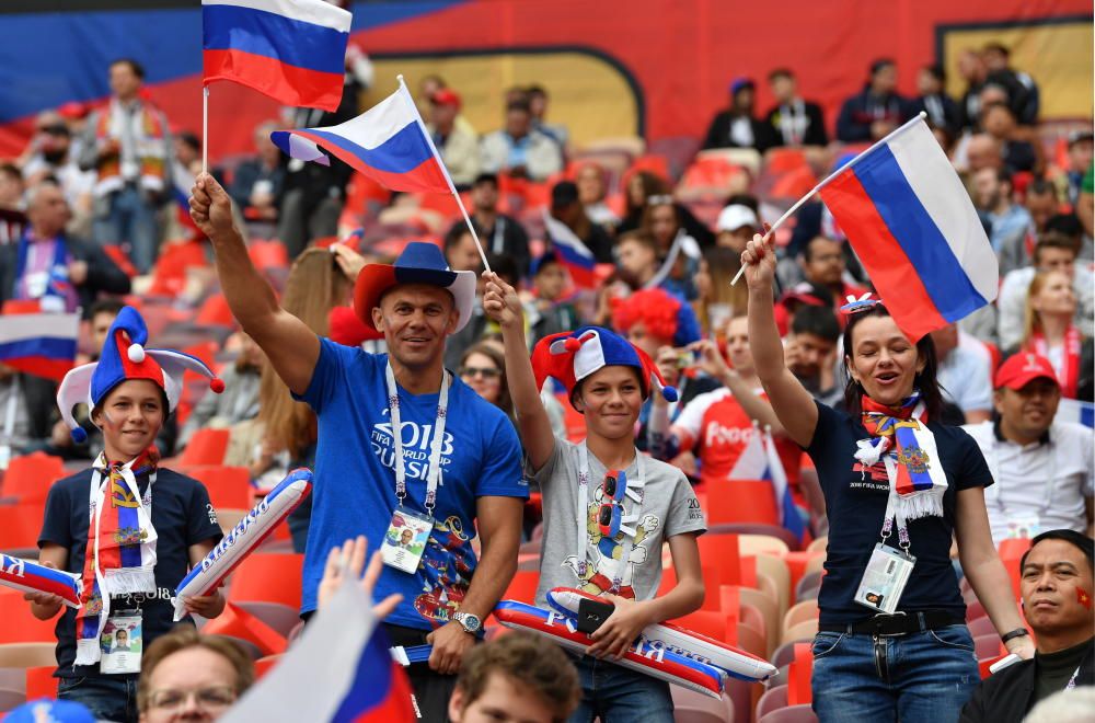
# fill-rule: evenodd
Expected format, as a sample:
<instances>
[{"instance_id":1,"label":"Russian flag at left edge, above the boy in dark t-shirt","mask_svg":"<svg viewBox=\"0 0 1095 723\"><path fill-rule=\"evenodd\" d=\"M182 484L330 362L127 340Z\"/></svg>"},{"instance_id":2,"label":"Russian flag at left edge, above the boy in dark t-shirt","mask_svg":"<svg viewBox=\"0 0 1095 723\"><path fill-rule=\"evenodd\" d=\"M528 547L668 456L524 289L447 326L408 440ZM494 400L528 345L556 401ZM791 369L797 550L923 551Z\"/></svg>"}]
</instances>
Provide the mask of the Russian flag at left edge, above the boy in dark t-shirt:
<instances>
[{"instance_id":1,"label":"Russian flag at left edge, above the boy in dark t-shirt","mask_svg":"<svg viewBox=\"0 0 1095 723\"><path fill-rule=\"evenodd\" d=\"M4 313L0 317L0 362L35 377L60 381L76 362L80 315Z\"/></svg>"}]
</instances>

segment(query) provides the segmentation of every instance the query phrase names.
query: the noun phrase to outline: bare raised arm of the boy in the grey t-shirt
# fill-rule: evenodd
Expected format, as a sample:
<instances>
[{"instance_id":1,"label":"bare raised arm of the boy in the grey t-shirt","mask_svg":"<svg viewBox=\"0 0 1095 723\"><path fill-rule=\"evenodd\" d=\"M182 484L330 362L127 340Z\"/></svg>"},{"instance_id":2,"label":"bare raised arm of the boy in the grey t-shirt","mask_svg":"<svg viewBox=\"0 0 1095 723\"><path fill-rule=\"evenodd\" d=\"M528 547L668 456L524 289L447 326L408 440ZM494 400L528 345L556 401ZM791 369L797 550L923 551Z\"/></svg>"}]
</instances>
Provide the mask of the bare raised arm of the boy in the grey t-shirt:
<instances>
[{"instance_id":1,"label":"bare raised arm of the boy in the grey t-shirt","mask_svg":"<svg viewBox=\"0 0 1095 723\"><path fill-rule=\"evenodd\" d=\"M497 274L484 273L487 279L483 292L483 311L502 326L502 343L506 347L506 378L509 395L517 413L517 429L533 470L539 470L555 449L551 420L540 401L540 389L532 374L532 360L525 342L525 311L517 291Z\"/></svg>"}]
</instances>

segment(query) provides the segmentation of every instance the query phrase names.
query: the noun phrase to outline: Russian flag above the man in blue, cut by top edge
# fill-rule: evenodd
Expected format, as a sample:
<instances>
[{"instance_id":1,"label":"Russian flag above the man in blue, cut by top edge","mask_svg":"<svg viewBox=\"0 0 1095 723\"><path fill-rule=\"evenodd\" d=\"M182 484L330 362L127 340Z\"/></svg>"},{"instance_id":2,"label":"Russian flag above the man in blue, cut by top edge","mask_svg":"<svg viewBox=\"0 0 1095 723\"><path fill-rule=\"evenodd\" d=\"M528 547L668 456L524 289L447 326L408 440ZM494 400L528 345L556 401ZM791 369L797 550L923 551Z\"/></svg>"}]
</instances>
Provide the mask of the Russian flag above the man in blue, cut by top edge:
<instances>
[{"instance_id":1,"label":"Russian flag above the man in blue, cut by top edge","mask_svg":"<svg viewBox=\"0 0 1095 723\"><path fill-rule=\"evenodd\" d=\"M201 0L203 84L230 80L286 105L335 111L351 19L323 0Z\"/></svg>"}]
</instances>

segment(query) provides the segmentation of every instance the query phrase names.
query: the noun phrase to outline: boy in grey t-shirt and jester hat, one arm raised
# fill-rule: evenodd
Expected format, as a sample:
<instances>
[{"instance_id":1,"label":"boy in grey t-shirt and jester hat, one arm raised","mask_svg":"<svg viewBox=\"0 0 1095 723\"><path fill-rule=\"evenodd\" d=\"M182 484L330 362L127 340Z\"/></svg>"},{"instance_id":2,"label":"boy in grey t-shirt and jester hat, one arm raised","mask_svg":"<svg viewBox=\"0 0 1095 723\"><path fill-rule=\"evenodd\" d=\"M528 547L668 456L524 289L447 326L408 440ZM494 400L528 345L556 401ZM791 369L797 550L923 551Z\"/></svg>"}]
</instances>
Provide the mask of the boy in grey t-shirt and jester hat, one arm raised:
<instances>
[{"instance_id":1,"label":"boy in grey t-shirt and jester hat, one arm raised","mask_svg":"<svg viewBox=\"0 0 1095 723\"><path fill-rule=\"evenodd\" d=\"M502 326L506 374L530 473L543 493L544 540L537 605L553 587L600 595L615 609L575 657L583 701L570 721L673 720L669 686L611 665L647 626L703 605L696 537L703 513L683 472L635 448L639 409L654 388L667 399L650 357L607 329L584 326L546 336L530 360L520 300L497 275L487 275L483 309ZM586 439L552 435L540 389L554 377L585 416ZM668 540L677 586L662 597L661 544ZM598 684L593 685L593 676Z\"/></svg>"}]
</instances>

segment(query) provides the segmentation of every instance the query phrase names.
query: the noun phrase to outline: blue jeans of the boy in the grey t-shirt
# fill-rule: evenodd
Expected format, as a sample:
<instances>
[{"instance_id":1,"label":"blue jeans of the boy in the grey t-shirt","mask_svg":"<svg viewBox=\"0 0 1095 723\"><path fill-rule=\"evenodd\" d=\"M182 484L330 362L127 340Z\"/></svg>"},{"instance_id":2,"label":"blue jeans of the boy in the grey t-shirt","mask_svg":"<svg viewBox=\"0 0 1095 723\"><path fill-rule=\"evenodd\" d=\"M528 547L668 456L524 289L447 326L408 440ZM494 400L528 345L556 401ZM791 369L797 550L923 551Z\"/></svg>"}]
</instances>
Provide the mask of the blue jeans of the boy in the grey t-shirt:
<instances>
[{"instance_id":1,"label":"blue jeans of the boy in the grey t-shirt","mask_svg":"<svg viewBox=\"0 0 1095 723\"><path fill-rule=\"evenodd\" d=\"M570 723L590 723L595 718L601 723L673 723L668 682L589 655L567 654L581 684L581 702Z\"/></svg>"}]
</instances>

